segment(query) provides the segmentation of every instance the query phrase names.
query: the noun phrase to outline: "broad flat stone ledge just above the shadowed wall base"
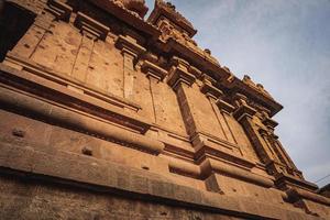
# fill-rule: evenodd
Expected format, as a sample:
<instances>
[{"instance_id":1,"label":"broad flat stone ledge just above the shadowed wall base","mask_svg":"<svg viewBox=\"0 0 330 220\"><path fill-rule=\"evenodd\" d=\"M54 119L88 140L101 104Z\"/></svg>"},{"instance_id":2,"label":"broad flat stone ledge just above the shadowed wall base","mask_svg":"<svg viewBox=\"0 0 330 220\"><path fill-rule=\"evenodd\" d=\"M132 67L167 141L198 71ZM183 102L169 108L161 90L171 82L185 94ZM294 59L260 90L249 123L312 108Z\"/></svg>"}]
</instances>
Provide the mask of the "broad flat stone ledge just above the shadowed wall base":
<instances>
[{"instance_id":1,"label":"broad flat stone ledge just above the shadowed wall base","mask_svg":"<svg viewBox=\"0 0 330 220\"><path fill-rule=\"evenodd\" d=\"M48 154L35 151L31 146L15 146L8 143L0 143L0 173L12 175L19 172L23 178L62 183L102 193L120 190L127 196L141 195L141 199L153 198L176 206L250 219L320 219L272 205L251 202L248 198L221 196L179 186L157 174L89 156L59 151Z\"/></svg>"}]
</instances>

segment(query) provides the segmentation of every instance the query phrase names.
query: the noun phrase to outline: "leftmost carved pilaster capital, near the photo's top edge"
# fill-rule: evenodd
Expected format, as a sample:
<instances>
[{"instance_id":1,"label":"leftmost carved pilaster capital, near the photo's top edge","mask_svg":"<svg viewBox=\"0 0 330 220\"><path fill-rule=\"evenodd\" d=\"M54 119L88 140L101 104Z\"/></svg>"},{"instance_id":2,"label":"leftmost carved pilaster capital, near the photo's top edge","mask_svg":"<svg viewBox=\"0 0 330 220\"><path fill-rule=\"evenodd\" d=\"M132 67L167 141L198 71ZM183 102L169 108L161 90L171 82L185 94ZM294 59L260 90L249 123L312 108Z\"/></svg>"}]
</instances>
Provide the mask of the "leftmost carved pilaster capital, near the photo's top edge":
<instances>
[{"instance_id":1,"label":"leftmost carved pilaster capital, near the photo's top edge","mask_svg":"<svg viewBox=\"0 0 330 220\"><path fill-rule=\"evenodd\" d=\"M55 15L57 20L68 22L73 12L73 8L58 0L50 0L47 2L48 11Z\"/></svg>"}]
</instances>

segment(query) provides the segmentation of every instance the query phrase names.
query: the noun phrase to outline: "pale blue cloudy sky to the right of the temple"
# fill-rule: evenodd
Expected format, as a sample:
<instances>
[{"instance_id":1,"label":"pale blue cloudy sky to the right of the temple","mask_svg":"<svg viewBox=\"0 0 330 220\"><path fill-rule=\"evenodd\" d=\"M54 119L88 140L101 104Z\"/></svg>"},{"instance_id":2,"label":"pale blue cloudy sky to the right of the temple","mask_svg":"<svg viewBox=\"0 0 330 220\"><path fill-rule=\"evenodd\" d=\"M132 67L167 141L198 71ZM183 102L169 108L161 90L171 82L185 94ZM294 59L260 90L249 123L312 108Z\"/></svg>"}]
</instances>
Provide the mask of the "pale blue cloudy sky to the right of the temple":
<instances>
[{"instance_id":1,"label":"pale blue cloudy sky to the right of the temple","mask_svg":"<svg viewBox=\"0 0 330 220\"><path fill-rule=\"evenodd\" d=\"M146 0L153 9L154 0ZM330 0L173 0L194 37L284 106L276 133L308 180L330 174ZM330 183L327 178L318 185Z\"/></svg>"}]
</instances>

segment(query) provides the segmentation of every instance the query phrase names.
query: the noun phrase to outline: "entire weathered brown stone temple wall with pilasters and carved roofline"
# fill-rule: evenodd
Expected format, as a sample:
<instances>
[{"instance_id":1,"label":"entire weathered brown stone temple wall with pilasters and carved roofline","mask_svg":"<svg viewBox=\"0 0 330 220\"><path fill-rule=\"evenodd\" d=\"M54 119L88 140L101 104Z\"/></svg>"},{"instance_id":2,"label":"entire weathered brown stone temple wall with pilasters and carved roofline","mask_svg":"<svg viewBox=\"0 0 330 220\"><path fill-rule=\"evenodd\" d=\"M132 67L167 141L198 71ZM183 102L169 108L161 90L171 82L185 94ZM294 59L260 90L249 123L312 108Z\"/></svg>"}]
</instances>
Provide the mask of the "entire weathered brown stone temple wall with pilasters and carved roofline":
<instances>
[{"instance_id":1,"label":"entire weathered brown stone temple wall with pilasters and carved roofline","mask_svg":"<svg viewBox=\"0 0 330 220\"><path fill-rule=\"evenodd\" d=\"M175 6L147 11L0 1L0 219L329 219L275 134L283 107Z\"/></svg>"}]
</instances>

